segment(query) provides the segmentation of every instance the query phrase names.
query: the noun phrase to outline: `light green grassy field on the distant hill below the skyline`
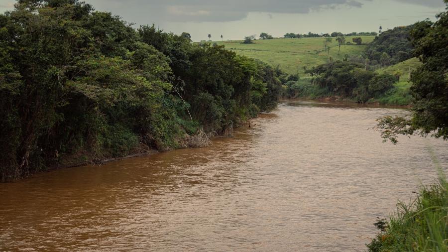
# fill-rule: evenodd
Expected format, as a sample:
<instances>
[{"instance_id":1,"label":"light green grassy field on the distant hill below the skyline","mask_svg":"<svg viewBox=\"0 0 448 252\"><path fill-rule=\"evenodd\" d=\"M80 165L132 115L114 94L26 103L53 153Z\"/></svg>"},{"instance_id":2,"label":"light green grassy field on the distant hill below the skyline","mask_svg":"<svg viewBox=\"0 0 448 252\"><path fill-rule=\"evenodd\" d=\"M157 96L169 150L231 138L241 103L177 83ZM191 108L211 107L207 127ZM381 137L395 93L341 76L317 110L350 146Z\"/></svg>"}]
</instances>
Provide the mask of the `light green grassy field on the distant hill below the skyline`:
<instances>
[{"instance_id":1,"label":"light green grassy field on the distant hill below the skyline","mask_svg":"<svg viewBox=\"0 0 448 252\"><path fill-rule=\"evenodd\" d=\"M346 37L351 42L353 37ZM331 43L330 56L334 60L342 60L344 55L359 56L365 50L367 43L373 41L375 36L361 36L363 45L342 45L338 53L336 38ZM241 40L216 41L219 45L225 45L226 49L238 54L259 59L271 66L280 66L280 69L288 74L297 73L303 76L303 66L313 66L327 63L327 52L324 50L324 38L276 38L255 40L253 44L242 44Z\"/></svg>"}]
</instances>

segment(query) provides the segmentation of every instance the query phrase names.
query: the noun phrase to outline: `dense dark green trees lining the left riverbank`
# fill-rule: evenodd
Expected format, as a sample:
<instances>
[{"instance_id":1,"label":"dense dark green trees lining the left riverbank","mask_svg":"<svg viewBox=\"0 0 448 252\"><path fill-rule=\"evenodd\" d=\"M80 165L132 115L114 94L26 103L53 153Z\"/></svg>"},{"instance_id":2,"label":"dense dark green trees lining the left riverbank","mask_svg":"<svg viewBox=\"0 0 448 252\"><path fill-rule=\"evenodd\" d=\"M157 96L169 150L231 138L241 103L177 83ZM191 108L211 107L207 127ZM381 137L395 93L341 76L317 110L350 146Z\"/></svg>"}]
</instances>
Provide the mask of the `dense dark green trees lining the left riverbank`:
<instances>
[{"instance_id":1,"label":"dense dark green trees lining the left riverbank","mask_svg":"<svg viewBox=\"0 0 448 252\"><path fill-rule=\"evenodd\" d=\"M281 88L261 62L79 0L19 0L0 34L0 181L223 134L274 108Z\"/></svg>"}]
</instances>

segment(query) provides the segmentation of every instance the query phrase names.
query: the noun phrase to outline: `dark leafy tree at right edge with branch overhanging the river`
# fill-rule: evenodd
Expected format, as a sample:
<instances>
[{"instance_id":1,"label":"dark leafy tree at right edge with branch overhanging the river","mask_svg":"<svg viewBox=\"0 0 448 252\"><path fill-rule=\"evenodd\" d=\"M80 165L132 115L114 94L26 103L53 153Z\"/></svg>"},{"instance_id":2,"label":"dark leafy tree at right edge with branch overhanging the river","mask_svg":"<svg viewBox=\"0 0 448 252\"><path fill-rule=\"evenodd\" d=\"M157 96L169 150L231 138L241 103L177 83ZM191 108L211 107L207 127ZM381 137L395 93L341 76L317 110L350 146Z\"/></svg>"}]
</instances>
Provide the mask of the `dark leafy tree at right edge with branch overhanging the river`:
<instances>
[{"instance_id":1,"label":"dark leafy tree at right edge with branch overhanging the river","mask_svg":"<svg viewBox=\"0 0 448 252\"><path fill-rule=\"evenodd\" d=\"M435 23L425 20L411 31L415 55L423 63L411 75L412 115L380 119L378 128L385 140L397 143L400 134L448 139L448 4L446 9Z\"/></svg>"}]
</instances>

